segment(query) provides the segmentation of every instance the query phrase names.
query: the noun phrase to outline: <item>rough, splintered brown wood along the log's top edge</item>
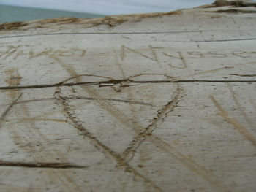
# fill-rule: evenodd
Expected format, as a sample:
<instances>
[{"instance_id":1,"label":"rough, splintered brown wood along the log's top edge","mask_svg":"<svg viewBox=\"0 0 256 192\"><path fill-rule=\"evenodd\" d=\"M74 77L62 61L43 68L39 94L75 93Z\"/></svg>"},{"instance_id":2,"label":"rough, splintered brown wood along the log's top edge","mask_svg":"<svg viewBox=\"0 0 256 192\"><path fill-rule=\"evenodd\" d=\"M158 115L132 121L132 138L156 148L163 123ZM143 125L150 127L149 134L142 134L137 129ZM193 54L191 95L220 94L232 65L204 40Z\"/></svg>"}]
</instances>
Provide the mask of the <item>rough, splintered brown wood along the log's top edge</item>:
<instances>
[{"instance_id":1,"label":"rough, splintered brown wood along the log's top edge","mask_svg":"<svg viewBox=\"0 0 256 192\"><path fill-rule=\"evenodd\" d=\"M256 7L256 2L252 1L225 1L217 0L212 4L202 5L201 9L213 8L213 7ZM155 18L167 15L181 15L185 9L179 9L171 12L154 12L145 14L129 14L129 15L112 15L106 16L105 18L72 18L72 17L61 17L61 18L50 18L43 20L30 20L23 22L12 22L0 24L0 31L12 31L21 30L26 31L30 28L45 28L49 25L65 25L65 24L86 24L85 28L90 28L99 25L107 25L110 27L118 26L121 23L131 21L138 22L144 18ZM232 11L231 11L232 12ZM236 11L233 11L236 12ZM253 11L255 13L255 11Z\"/></svg>"}]
</instances>

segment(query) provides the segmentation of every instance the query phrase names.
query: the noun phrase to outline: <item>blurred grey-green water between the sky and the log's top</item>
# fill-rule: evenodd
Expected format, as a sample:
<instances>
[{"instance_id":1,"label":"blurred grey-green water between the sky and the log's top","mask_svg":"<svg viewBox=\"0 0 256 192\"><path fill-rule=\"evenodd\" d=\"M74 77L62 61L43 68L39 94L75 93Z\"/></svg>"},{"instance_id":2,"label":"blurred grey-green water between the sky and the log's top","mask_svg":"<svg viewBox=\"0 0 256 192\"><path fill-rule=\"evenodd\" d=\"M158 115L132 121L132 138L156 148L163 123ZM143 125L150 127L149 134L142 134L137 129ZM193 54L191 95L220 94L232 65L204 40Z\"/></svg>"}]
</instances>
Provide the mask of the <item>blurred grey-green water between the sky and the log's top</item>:
<instances>
[{"instance_id":1,"label":"blurred grey-green water between the sky and the log's top","mask_svg":"<svg viewBox=\"0 0 256 192\"><path fill-rule=\"evenodd\" d=\"M105 15L96 15L83 12L67 12L51 9L37 9L30 7L14 7L0 4L0 23L58 17L102 18L105 17Z\"/></svg>"}]
</instances>

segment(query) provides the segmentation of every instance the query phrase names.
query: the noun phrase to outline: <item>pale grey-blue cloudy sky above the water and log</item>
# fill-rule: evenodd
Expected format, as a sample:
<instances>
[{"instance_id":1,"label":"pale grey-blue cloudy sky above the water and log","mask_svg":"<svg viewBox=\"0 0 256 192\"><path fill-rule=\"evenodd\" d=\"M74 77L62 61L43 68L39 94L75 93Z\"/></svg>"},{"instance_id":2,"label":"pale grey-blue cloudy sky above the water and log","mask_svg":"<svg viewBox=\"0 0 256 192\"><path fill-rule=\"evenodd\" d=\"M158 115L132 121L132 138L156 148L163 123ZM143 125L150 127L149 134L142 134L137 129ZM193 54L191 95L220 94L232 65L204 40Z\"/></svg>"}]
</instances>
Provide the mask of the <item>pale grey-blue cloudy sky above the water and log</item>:
<instances>
[{"instance_id":1,"label":"pale grey-blue cloudy sky above the water and log","mask_svg":"<svg viewBox=\"0 0 256 192\"><path fill-rule=\"evenodd\" d=\"M211 4L214 0L0 0L0 4L118 15L143 12L165 12Z\"/></svg>"}]
</instances>

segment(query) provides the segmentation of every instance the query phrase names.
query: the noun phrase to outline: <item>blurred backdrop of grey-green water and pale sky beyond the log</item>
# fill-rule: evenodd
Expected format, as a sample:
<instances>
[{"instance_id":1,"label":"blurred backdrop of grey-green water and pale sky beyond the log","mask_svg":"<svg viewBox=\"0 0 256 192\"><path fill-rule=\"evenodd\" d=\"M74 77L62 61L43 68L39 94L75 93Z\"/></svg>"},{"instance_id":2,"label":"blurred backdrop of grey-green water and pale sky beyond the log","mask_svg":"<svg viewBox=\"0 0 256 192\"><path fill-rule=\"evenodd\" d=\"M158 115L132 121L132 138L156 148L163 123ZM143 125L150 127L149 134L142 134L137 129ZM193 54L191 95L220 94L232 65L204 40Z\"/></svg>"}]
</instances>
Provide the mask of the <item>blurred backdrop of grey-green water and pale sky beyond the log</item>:
<instances>
[{"instance_id":1,"label":"blurred backdrop of grey-green water and pale sky beyond the log","mask_svg":"<svg viewBox=\"0 0 256 192\"><path fill-rule=\"evenodd\" d=\"M0 23L56 17L165 12L211 4L214 0L0 0Z\"/></svg>"}]
</instances>

